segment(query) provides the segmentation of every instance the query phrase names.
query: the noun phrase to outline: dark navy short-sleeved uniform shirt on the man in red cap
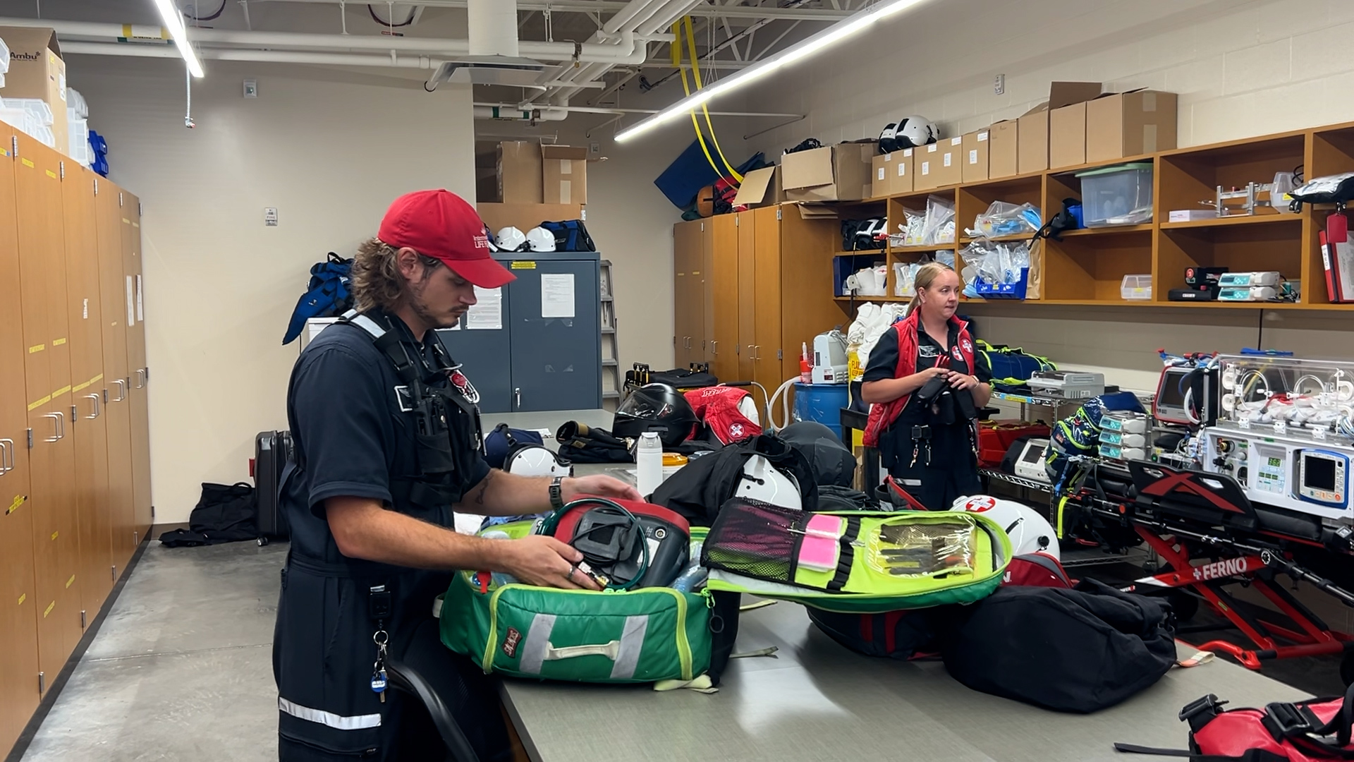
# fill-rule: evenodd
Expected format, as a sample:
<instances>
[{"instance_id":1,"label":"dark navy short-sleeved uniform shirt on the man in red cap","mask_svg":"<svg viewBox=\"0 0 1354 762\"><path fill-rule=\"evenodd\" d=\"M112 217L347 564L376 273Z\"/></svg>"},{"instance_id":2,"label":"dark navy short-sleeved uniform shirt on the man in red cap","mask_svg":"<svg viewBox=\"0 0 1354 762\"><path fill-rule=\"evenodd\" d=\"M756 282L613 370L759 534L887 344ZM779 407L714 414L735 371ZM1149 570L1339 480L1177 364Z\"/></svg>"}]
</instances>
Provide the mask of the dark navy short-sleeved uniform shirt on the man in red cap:
<instances>
[{"instance_id":1,"label":"dark navy short-sleeved uniform shirt on the man in red cap","mask_svg":"<svg viewBox=\"0 0 1354 762\"><path fill-rule=\"evenodd\" d=\"M416 342L397 317L394 329L410 357L428 347ZM435 385L445 386L450 381ZM414 418L402 412L390 359L375 347L371 335L356 325L330 325L297 361L287 392L287 422L302 466L287 481L280 510L291 522L292 550L326 563L341 563L325 521L328 498L371 498L391 510L440 526L454 526L450 506L427 511L391 498L391 479L418 476ZM478 484L489 473L483 458L462 484Z\"/></svg>"}]
</instances>

